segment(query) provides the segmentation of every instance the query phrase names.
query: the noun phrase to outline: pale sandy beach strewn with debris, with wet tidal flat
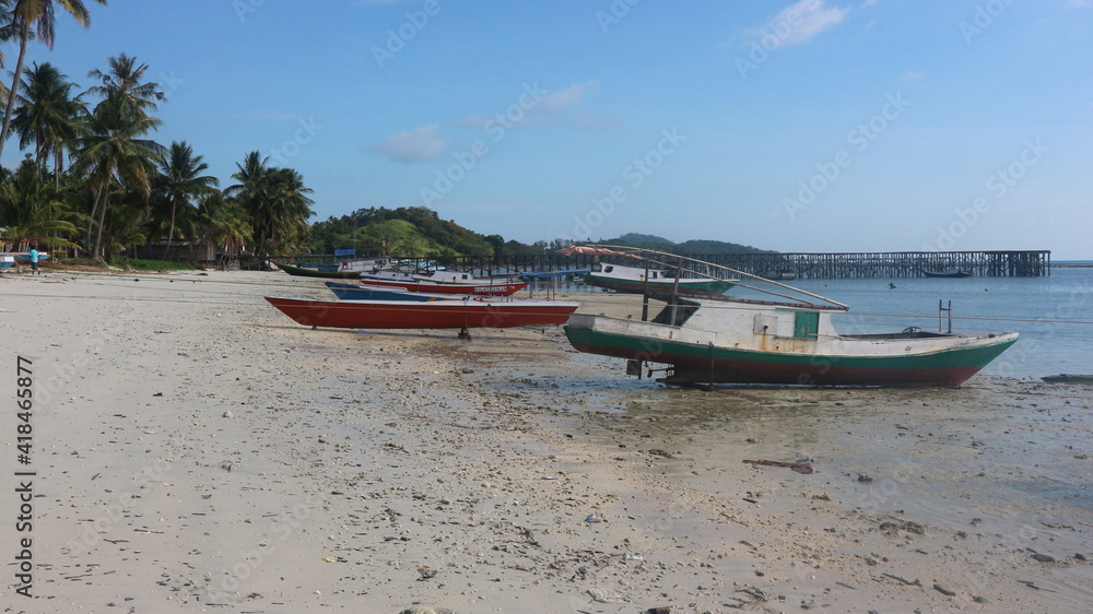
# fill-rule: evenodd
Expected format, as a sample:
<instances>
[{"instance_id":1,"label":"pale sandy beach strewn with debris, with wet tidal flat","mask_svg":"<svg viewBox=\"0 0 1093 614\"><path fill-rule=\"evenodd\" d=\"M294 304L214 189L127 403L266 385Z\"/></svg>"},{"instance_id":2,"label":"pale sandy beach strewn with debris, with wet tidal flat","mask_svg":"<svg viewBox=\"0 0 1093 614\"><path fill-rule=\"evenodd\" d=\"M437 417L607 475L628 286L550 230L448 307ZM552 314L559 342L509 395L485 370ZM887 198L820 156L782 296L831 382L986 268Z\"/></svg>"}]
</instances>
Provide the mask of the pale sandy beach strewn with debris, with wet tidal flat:
<instances>
[{"instance_id":1,"label":"pale sandy beach strewn with debris, with wet tidal flat","mask_svg":"<svg viewBox=\"0 0 1093 614\"><path fill-rule=\"evenodd\" d=\"M15 409L3 438L5 612L1093 604L1089 387L671 389L555 327L312 330L262 296L328 291L280 273L0 293L0 394L34 399L31 462Z\"/></svg>"}]
</instances>

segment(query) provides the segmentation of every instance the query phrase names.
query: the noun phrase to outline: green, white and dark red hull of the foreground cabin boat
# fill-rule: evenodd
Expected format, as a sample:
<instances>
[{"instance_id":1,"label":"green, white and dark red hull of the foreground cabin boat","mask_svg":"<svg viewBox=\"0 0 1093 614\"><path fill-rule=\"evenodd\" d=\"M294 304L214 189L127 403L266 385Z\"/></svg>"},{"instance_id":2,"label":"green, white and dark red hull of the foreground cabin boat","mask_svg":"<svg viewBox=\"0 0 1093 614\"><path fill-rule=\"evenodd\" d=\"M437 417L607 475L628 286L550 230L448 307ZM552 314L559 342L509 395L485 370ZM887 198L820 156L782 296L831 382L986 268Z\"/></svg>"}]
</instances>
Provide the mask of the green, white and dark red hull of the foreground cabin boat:
<instances>
[{"instance_id":1,"label":"green, white and dark red hull of the foreground cabin boat","mask_svg":"<svg viewBox=\"0 0 1093 614\"><path fill-rule=\"evenodd\" d=\"M860 343L861 352L772 352L633 334L625 326L600 327L596 320L610 318L571 319L565 333L575 349L671 365L668 383L956 386L1018 339L1016 333L952 335L951 344L944 345L938 335L889 335L892 352L879 353L879 335L861 335L860 341L848 335L841 339L844 347Z\"/></svg>"}]
</instances>

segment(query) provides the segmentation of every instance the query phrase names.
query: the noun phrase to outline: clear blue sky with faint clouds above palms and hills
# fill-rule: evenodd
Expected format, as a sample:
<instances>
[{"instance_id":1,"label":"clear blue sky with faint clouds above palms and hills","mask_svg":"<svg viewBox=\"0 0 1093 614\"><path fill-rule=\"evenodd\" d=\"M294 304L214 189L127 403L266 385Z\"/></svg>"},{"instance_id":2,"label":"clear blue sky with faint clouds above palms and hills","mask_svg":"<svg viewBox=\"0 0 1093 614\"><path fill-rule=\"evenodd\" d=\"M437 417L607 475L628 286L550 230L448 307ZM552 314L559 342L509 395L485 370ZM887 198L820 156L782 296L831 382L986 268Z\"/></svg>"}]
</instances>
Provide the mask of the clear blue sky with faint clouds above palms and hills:
<instances>
[{"instance_id":1,"label":"clear blue sky with faint clouds above palms and hills","mask_svg":"<svg viewBox=\"0 0 1093 614\"><path fill-rule=\"evenodd\" d=\"M317 219L1093 258L1091 0L86 1L28 60L137 56L160 142L296 168Z\"/></svg>"}]
</instances>

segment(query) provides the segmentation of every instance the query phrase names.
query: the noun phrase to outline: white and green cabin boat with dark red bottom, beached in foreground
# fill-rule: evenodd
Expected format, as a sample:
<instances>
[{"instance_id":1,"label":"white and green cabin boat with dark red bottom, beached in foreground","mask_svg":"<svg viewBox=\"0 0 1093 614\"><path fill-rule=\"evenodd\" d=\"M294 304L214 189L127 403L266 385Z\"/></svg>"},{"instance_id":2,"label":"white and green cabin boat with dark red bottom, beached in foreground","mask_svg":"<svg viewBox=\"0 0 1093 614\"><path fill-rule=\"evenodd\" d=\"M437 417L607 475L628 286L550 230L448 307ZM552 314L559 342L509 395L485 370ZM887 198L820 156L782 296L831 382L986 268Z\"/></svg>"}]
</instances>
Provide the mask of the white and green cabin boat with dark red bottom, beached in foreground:
<instances>
[{"instance_id":1,"label":"white and green cabin boat with dark red bottom, beached in foreground","mask_svg":"<svg viewBox=\"0 0 1093 614\"><path fill-rule=\"evenodd\" d=\"M1015 332L952 334L915 327L839 334L832 316L848 306L732 273L775 286L743 286L769 299L674 297L650 321L577 314L565 334L581 352L627 359L632 375L640 376L645 363L663 365L667 383L810 386L955 386L1018 340Z\"/></svg>"}]
</instances>

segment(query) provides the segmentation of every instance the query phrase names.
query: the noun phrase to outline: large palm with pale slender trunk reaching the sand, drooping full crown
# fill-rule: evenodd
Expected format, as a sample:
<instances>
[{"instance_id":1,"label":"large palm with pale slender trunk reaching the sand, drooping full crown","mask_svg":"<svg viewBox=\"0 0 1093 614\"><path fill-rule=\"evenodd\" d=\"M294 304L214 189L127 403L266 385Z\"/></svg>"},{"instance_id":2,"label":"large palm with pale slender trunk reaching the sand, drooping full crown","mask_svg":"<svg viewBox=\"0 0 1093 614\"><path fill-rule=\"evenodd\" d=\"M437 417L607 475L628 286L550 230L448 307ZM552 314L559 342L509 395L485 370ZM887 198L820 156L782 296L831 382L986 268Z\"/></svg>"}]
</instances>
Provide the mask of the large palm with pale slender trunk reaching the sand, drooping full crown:
<instances>
[{"instance_id":1,"label":"large palm with pale slender trunk reaching the sand, drooping full crown","mask_svg":"<svg viewBox=\"0 0 1093 614\"><path fill-rule=\"evenodd\" d=\"M164 147L141 137L160 123L161 120L138 113L120 91L110 92L87 116L77 155L79 163L89 170L95 190L92 219L97 211L98 228L91 252L97 261L103 261L103 227L115 185L125 186L145 199L152 193L152 180L156 165L163 160ZM91 244L90 226L86 243Z\"/></svg>"}]
</instances>

